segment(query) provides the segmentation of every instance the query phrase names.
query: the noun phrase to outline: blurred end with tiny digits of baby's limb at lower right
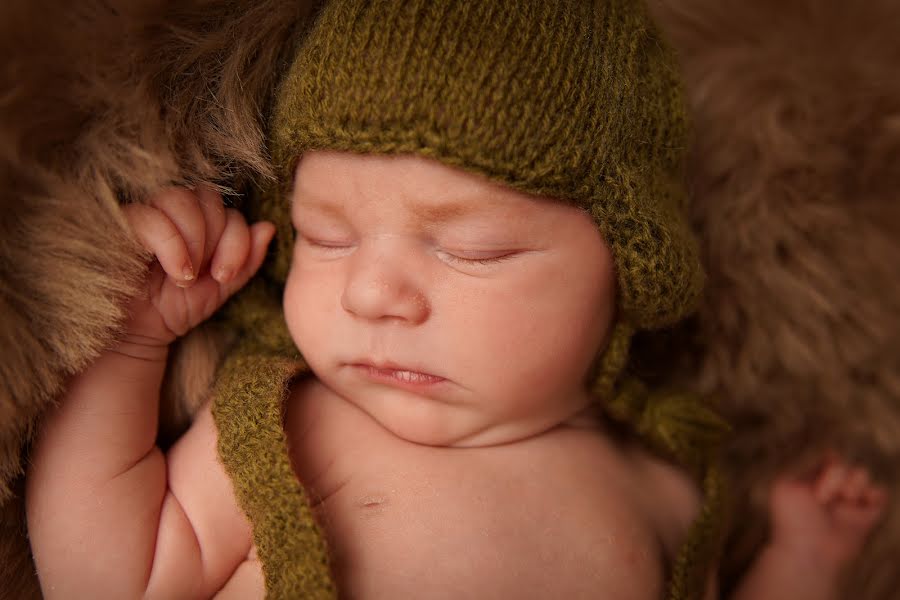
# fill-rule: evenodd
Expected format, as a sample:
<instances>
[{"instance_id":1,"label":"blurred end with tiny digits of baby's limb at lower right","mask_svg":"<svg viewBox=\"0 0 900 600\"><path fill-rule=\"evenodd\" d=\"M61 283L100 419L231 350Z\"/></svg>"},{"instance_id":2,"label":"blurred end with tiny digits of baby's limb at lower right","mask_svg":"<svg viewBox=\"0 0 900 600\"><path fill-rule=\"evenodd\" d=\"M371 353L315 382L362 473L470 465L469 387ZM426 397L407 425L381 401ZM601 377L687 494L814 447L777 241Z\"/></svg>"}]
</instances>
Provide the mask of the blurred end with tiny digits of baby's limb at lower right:
<instances>
[{"instance_id":1,"label":"blurred end with tiny digits of baby's limb at lower right","mask_svg":"<svg viewBox=\"0 0 900 600\"><path fill-rule=\"evenodd\" d=\"M865 468L829 456L811 478L776 480L771 543L837 575L862 550L886 503Z\"/></svg>"}]
</instances>

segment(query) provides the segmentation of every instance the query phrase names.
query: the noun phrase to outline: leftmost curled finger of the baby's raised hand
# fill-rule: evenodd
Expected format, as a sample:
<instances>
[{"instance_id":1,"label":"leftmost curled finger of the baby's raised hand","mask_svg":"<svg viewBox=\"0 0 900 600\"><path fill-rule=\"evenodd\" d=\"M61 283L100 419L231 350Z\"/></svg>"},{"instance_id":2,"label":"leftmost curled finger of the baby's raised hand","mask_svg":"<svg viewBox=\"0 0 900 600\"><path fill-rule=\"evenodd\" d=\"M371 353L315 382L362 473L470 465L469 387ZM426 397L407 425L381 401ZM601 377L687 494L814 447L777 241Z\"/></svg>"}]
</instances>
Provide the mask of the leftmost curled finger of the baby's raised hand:
<instances>
[{"instance_id":1,"label":"leftmost curled finger of the baby's raised hand","mask_svg":"<svg viewBox=\"0 0 900 600\"><path fill-rule=\"evenodd\" d=\"M163 271L178 285L189 285L194 278L191 259L175 224L146 204L129 204L123 212L138 242L156 257Z\"/></svg>"}]
</instances>

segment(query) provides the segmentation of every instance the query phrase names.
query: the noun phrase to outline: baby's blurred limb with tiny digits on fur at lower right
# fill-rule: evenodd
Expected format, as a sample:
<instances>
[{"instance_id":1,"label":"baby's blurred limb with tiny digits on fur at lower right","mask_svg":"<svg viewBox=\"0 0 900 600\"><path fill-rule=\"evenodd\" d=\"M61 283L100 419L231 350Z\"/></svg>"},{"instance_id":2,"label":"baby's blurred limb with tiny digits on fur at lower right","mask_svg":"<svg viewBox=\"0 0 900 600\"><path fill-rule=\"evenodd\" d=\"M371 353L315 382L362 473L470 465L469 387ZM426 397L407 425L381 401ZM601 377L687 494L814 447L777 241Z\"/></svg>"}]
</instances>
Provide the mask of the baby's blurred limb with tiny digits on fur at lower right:
<instances>
[{"instance_id":1,"label":"baby's blurred limb with tiny digits on fur at lower right","mask_svg":"<svg viewBox=\"0 0 900 600\"><path fill-rule=\"evenodd\" d=\"M862 550L885 503L884 490L865 469L835 458L812 481L776 481L772 539L734 600L836 600L843 571Z\"/></svg>"}]
</instances>

